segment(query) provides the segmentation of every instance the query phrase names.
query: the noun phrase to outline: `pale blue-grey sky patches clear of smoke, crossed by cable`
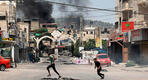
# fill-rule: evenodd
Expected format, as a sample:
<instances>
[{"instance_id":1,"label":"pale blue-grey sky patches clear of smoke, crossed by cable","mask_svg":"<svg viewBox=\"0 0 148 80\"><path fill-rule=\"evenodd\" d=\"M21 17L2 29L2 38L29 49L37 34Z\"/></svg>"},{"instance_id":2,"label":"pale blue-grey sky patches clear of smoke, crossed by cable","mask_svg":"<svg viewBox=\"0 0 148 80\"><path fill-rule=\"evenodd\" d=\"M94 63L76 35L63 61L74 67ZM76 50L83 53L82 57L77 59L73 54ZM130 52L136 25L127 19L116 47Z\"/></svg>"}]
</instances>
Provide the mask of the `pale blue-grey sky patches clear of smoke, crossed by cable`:
<instances>
[{"instance_id":1,"label":"pale blue-grey sky patches clear of smoke, crossed by cable","mask_svg":"<svg viewBox=\"0 0 148 80\"><path fill-rule=\"evenodd\" d=\"M53 1L53 0L48 0ZM60 2L61 0L54 0L54 2ZM86 6L93 7L93 8L103 8L103 9L111 9L114 10L115 1L114 0L89 0L90 3ZM62 17L61 12L59 12L58 6L54 4L53 6L53 18ZM91 20L101 20L104 22L114 23L114 12L105 12L105 11L98 11L98 10L91 10L88 13L84 14L86 19Z\"/></svg>"}]
</instances>

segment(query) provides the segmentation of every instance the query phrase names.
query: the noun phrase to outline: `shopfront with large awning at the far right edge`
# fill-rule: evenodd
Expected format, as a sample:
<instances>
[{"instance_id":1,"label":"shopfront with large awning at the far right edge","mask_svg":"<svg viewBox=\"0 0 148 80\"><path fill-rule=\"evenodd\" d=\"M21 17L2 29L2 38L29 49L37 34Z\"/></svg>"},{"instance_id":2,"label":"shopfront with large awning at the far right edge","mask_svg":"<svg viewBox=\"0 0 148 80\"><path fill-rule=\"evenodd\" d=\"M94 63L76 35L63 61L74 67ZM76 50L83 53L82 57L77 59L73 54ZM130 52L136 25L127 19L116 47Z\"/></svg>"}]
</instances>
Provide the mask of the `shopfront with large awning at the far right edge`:
<instances>
[{"instance_id":1,"label":"shopfront with large awning at the far right edge","mask_svg":"<svg viewBox=\"0 0 148 80\"><path fill-rule=\"evenodd\" d=\"M139 62L148 64L148 28L131 31L131 41L134 45L139 45Z\"/></svg>"}]
</instances>

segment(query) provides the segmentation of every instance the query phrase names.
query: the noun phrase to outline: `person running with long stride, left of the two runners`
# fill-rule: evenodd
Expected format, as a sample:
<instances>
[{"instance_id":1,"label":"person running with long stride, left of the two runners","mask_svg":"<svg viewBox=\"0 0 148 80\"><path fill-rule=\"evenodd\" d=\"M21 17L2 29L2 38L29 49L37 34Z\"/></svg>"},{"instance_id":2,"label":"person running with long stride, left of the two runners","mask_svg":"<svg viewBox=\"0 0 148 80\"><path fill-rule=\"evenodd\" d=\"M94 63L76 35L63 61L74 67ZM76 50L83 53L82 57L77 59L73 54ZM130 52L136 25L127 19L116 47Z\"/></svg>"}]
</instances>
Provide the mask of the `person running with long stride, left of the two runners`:
<instances>
[{"instance_id":1,"label":"person running with long stride, left of the two runners","mask_svg":"<svg viewBox=\"0 0 148 80\"><path fill-rule=\"evenodd\" d=\"M47 70L48 70L48 73L49 73L48 76L51 76L49 69L52 68L54 70L54 72L56 72L58 74L59 78L61 78L61 75L57 72L56 67L55 67L55 57L50 55L50 53L48 54L48 56L49 56L50 62L51 62L51 64L47 67Z\"/></svg>"}]
</instances>

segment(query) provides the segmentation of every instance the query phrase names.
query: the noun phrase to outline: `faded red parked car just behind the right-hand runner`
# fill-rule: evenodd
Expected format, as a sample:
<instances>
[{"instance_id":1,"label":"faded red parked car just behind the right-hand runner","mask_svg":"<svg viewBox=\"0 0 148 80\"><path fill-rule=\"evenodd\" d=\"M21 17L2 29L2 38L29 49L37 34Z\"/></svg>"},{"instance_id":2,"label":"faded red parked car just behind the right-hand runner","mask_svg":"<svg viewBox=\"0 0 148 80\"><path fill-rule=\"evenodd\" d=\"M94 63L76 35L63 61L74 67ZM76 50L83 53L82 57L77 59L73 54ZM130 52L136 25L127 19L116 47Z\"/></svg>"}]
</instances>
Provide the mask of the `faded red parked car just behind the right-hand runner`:
<instances>
[{"instance_id":1,"label":"faded red parked car just behind the right-hand runner","mask_svg":"<svg viewBox=\"0 0 148 80\"><path fill-rule=\"evenodd\" d=\"M101 65L111 66L111 60L107 54L97 54L97 60L100 62Z\"/></svg>"}]
</instances>

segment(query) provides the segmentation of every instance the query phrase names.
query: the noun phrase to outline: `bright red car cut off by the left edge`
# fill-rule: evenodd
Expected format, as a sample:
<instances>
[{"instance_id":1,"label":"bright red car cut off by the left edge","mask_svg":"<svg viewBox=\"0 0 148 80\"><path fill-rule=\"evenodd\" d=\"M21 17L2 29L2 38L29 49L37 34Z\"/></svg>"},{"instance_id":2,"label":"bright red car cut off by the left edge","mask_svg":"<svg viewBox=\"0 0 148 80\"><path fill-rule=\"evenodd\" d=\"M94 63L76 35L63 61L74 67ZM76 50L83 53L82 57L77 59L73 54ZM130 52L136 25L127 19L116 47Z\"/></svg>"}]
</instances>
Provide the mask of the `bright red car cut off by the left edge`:
<instances>
[{"instance_id":1,"label":"bright red car cut off by the left edge","mask_svg":"<svg viewBox=\"0 0 148 80\"><path fill-rule=\"evenodd\" d=\"M0 56L0 71L5 71L7 68L10 68L10 60Z\"/></svg>"}]
</instances>

